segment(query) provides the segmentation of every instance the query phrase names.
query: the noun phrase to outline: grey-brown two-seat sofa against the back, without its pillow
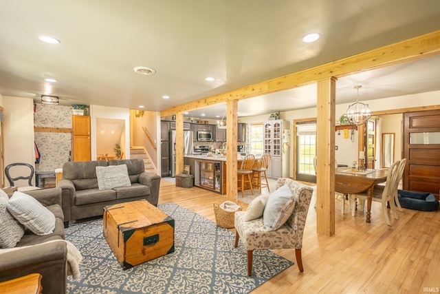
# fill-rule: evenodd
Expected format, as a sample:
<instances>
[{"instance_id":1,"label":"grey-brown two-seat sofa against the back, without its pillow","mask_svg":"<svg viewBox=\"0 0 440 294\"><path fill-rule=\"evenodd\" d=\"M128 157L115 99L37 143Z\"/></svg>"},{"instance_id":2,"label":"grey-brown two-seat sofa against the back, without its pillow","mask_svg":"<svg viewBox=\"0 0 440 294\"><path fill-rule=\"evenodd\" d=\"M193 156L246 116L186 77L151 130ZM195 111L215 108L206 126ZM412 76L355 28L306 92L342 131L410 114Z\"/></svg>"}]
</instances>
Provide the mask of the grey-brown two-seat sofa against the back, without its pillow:
<instances>
[{"instance_id":1,"label":"grey-brown two-seat sofa against the back, without its pillow","mask_svg":"<svg viewBox=\"0 0 440 294\"><path fill-rule=\"evenodd\" d=\"M126 165L131 185L99 189L102 182L98 183L96 167L113 165ZM65 226L69 221L100 216L110 204L146 199L157 206L160 180L160 176L145 172L142 159L65 162L63 178L56 185L62 190Z\"/></svg>"}]
</instances>

